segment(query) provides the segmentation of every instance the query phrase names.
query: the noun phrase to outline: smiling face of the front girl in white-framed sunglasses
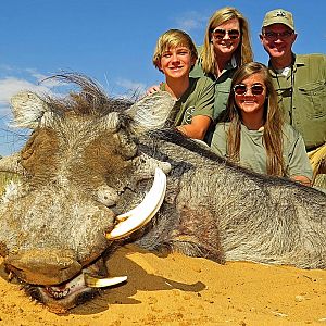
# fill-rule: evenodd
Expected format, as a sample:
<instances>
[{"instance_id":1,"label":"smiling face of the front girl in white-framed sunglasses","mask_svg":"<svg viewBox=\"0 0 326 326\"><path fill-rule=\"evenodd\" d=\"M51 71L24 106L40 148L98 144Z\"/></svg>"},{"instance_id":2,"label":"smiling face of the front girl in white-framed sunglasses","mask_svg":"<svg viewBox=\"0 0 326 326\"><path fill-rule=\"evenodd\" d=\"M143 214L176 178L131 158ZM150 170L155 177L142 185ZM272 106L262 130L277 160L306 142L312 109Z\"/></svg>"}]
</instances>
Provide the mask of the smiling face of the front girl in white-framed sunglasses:
<instances>
[{"instance_id":1,"label":"smiling face of the front girl in white-framed sunglasses","mask_svg":"<svg viewBox=\"0 0 326 326\"><path fill-rule=\"evenodd\" d=\"M237 89L235 87L235 102L240 110L243 123L247 125L247 122L260 121L263 125L264 103L267 93L264 76L260 73L255 73L237 85L246 87L246 92L242 95L237 95ZM261 93L259 93L260 91L256 91L260 88L262 89Z\"/></svg>"}]
</instances>

